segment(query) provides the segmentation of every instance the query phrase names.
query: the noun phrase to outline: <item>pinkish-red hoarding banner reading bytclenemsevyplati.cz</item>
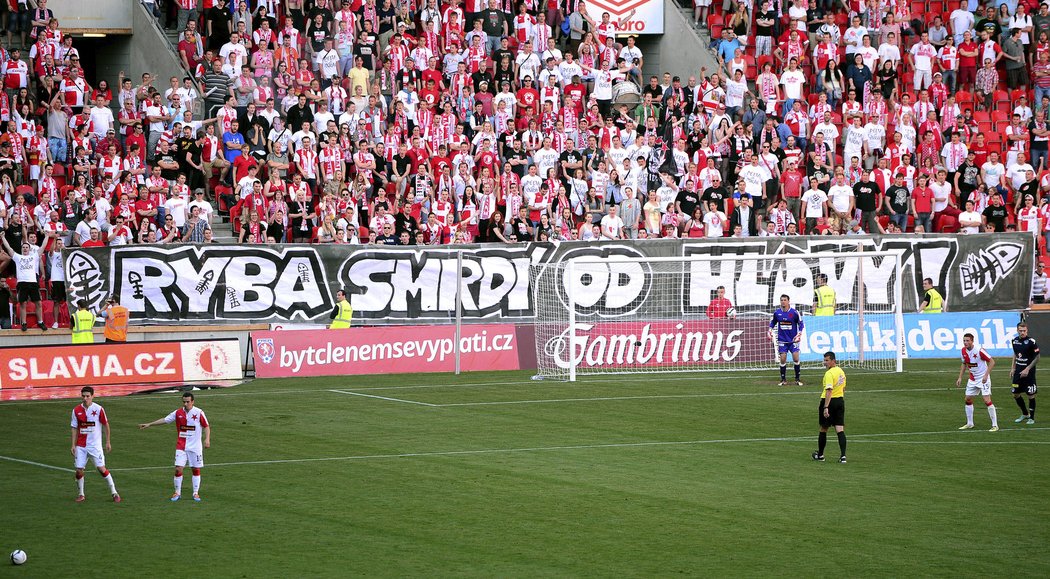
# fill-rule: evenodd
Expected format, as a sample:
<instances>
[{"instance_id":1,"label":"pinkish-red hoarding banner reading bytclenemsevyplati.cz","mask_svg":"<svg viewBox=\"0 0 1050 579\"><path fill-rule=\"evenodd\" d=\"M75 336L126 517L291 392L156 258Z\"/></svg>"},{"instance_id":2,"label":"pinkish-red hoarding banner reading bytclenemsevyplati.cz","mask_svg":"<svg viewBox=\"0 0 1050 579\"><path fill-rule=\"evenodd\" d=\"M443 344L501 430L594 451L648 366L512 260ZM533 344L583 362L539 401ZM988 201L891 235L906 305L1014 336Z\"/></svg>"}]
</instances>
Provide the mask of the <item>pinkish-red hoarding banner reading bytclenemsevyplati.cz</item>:
<instances>
[{"instance_id":1,"label":"pinkish-red hoarding banner reading bytclenemsevyplati.cz","mask_svg":"<svg viewBox=\"0 0 1050 579\"><path fill-rule=\"evenodd\" d=\"M392 326L349 330L252 333L255 375L342 376L452 372L454 326ZM460 336L463 371L518 370L518 336L509 324L465 326Z\"/></svg>"}]
</instances>

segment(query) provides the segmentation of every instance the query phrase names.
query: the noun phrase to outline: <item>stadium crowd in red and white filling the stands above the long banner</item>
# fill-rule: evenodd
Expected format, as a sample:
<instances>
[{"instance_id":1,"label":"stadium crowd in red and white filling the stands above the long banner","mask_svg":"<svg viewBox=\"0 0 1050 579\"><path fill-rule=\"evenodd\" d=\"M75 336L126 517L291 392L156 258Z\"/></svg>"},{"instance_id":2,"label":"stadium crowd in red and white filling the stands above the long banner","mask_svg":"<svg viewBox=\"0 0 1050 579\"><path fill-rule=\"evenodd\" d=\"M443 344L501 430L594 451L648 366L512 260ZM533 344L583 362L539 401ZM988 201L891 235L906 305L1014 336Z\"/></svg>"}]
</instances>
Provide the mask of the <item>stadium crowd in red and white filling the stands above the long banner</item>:
<instances>
[{"instance_id":1,"label":"stadium crowd in red and white filling the stands above the long banner","mask_svg":"<svg viewBox=\"0 0 1050 579\"><path fill-rule=\"evenodd\" d=\"M2 14L14 248L1050 235L1047 4L694 0L721 68L645 78L583 0L144 0L186 77L92 86L38 2Z\"/></svg>"}]
</instances>

